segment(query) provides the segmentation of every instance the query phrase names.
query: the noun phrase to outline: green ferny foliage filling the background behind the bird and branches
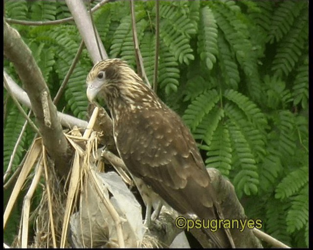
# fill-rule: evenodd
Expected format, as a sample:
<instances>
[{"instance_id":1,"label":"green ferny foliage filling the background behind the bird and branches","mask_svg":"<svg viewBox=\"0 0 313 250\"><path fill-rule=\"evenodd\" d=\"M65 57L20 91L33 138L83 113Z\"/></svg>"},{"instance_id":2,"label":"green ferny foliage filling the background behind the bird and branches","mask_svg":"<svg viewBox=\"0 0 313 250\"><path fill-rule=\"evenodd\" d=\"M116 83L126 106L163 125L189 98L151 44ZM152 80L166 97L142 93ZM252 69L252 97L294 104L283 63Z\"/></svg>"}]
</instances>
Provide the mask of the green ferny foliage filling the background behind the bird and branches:
<instances>
[{"instance_id":1,"label":"green ferny foliage filling the background behind the bird and branches","mask_svg":"<svg viewBox=\"0 0 313 250\"><path fill-rule=\"evenodd\" d=\"M159 11L159 97L190 127L206 166L232 182L247 216L262 219L262 230L289 246L308 247L308 1L161 1ZM61 0L5 0L6 18L69 16ZM155 2L135 1L135 18L152 83ZM135 69L129 2L105 4L93 19L110 58L122 58ZM81 42L75 23L13 26L54 97ZM19 82L11 63L3 63ZM91 66L84 49L58 110L87 119L85 79ZM5 171L24 118L5 90L3 98ZM33 136L27 126L14 169ZM9 195L5 190L4 206ZM17 233L21 205L22 198L4 231L7 243Z\"/></svg>"}]
</instances>

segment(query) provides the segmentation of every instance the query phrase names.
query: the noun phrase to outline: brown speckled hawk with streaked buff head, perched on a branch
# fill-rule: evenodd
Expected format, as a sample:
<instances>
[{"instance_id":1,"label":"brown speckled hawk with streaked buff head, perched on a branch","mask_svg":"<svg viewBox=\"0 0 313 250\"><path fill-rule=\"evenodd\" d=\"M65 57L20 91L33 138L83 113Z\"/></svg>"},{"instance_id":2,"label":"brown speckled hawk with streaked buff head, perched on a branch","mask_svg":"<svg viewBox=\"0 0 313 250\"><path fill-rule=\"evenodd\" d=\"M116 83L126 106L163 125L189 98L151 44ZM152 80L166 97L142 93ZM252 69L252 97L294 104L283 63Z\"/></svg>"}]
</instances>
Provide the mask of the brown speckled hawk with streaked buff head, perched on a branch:
<instances>
[{"instance_id":1,"label":"brown speckled hawk with streaked buff head, perched on a branch","mask_svg":"<svg viewBox=\"0 0 313 250\"><path fill-rule=\"evenodd\" d=\"M132 175L179 213L219 219L216 191L179 115L121 59L97 62L86 83L89 102L104 99L109 108L117 151ZM228 229L206 233L217 247L235 248Z\"/></svg>"}]
</instances>

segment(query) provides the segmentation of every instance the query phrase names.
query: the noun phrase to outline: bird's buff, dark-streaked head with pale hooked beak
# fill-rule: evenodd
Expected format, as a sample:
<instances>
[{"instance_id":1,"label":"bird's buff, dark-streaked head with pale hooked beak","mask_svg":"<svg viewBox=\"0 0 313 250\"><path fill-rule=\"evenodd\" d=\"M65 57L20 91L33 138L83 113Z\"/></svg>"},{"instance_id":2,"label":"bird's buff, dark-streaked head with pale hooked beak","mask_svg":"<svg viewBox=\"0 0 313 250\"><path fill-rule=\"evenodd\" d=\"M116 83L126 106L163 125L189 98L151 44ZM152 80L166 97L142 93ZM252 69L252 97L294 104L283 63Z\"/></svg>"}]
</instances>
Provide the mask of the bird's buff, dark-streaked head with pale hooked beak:
<instances>
[{"instance_id":1,"label":"bird's buff, dark-streaked head with pale hooked beak","mask_svg":"<svg viewBox=\"0 0 313 250\"><path fill-rule=\"evenodd\" d=\"M96 97L103 98L110 109L114 104L151 106L156 102L154 92L120 59L97 62L90 70L86 83L89 102L96 103Z\"/></svg>"}]
</instances>

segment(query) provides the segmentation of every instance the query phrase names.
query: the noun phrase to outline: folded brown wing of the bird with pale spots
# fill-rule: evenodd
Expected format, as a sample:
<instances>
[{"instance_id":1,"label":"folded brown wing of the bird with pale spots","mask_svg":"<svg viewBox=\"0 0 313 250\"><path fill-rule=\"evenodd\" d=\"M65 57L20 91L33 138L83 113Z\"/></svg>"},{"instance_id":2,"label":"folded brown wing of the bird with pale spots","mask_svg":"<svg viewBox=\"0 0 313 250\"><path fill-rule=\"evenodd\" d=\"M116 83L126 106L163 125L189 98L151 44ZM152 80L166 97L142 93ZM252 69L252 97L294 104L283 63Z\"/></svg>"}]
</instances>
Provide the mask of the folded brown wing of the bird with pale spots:
<instances>
[{"instance_id":1,"label":"folded brown wing of the bird with pale spots","mask_svg":"<svg viewBox=\"0 0 313 250\"><path fill-rule=\"evenodd\" d=\"M170 206L181 213L202 213L213 207L210 177L196 142L172 110L137 109L120 114L114 133L129 170Z\"/></svg>"}]
</instances>

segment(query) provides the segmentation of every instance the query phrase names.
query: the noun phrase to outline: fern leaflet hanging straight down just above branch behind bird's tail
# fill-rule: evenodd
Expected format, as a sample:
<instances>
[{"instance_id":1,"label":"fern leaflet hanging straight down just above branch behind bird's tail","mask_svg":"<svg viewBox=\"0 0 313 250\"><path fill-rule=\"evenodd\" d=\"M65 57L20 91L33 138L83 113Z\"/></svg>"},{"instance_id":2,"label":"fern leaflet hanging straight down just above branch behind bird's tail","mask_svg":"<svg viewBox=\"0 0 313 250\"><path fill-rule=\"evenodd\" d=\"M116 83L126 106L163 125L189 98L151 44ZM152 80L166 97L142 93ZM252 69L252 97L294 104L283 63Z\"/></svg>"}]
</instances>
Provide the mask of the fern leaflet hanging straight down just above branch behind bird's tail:
<instances>
[{"instance_id":1,"label":"fern leaflet hanging straight down just above branch behind bird's tail","mask_svg":"<svg viewBox=\"0 0 313 250\"><path fill-rule=\"evenodd\" d=\"M229 175L232 162L232 148L227 125L219 124L213 133L210 145L206 152L206 167L214 167L224 176Z\"/></svg>"}]
</instances>

